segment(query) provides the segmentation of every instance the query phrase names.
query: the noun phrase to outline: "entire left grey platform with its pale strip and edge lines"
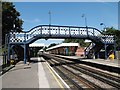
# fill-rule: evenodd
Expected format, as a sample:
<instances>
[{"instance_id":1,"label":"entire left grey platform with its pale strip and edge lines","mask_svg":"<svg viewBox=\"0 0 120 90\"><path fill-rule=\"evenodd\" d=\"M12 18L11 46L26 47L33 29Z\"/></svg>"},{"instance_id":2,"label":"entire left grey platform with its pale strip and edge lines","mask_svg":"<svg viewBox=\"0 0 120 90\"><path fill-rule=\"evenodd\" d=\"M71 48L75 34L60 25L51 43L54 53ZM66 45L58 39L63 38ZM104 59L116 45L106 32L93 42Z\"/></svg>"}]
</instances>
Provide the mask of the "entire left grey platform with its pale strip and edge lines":
<instances>
[{"instance_id":1,"label":"entire left grey platform with its pale strip and edge lines","mask_svg":"<svg viewBox=\"0 0 120 90\"><path fill-rule=\"evenodd\" d=\"M42 57L19 62L3 74L2 88L69 88Z\"/></svg>"}]
</instances>

